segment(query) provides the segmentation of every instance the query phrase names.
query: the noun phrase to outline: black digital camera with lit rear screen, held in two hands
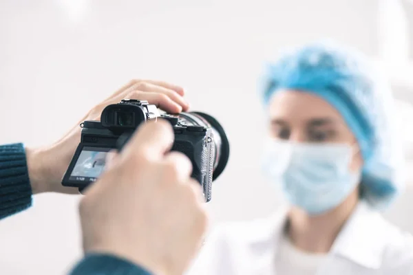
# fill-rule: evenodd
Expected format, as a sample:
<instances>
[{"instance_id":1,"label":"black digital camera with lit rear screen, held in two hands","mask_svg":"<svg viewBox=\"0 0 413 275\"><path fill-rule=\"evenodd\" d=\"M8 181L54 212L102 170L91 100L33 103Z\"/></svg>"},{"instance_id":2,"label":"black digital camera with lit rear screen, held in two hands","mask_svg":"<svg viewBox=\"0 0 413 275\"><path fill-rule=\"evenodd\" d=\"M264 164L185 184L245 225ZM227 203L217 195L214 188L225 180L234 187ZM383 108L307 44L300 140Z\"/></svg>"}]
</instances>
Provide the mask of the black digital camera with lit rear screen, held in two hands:
<instances>
[{"instance_id":1,"label":"black digital camera with lit rear screen, held in two hands","mask_svg":"<svg viewBox=\"0 0 413 275\"><path fill-rule=\"evenodd\" d=\"M210 201L212 181L222 173L229 159L229 140L221 124L207 113L162 113L145 100L125 99L110 104L103 109L100 121L81 123L81 142L62 185L82 192L104 172L107 154L113 149L121 151L140 124L158 119L172 125L171 151L189 157L193 166L191 177L201 184L205 200Z\"/></svg>"}]
</instances>

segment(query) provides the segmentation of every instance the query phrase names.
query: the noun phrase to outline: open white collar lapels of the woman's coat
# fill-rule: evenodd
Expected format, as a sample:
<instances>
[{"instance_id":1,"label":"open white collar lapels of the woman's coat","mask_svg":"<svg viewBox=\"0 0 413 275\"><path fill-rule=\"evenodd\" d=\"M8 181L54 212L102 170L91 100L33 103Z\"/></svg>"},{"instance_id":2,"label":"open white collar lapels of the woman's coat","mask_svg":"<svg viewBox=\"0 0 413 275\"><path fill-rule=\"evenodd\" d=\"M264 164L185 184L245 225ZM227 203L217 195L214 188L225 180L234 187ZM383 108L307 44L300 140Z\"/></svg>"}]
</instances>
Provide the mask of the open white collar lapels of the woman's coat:
<instances>
[{"instance_id":1,"label":"open white collar lapels of the woman's coat","mask_svg":"<svg viewBox=\"0 0 413 275\"><path fill-rule=\"evenodd\" d=\"M263 219L248 228L252 254L260 266L271 266L282 238L288 207L269 219ZM341 257L368 269L381 267L385 250L385 221L379 212L361 201L337 236L329 257Z\"/></svg>"}]
</instances>

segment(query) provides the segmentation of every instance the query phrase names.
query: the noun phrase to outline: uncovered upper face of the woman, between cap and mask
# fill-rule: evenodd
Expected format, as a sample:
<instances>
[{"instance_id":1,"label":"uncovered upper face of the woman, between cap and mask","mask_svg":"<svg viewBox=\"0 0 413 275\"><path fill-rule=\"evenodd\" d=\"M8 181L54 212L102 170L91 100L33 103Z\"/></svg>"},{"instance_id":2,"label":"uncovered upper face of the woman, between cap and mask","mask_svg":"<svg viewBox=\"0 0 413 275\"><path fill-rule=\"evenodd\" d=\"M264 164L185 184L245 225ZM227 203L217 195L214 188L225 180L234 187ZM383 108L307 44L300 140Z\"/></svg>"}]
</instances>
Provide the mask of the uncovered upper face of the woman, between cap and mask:
<instances>
[{"instance_id":1,"label":"uncovered upper face of the woman, between cap and mask","mask_svg":"<svg viewBox=\"0 0 413 275\"><path fill-rule=\"evenodd\" d=\"M269 104L272 137L293 142L339 143L353 148L350 170L361 169L363 160L352 131L328 102L303 91L277 91Z\"/></svg>"}]
</instances>

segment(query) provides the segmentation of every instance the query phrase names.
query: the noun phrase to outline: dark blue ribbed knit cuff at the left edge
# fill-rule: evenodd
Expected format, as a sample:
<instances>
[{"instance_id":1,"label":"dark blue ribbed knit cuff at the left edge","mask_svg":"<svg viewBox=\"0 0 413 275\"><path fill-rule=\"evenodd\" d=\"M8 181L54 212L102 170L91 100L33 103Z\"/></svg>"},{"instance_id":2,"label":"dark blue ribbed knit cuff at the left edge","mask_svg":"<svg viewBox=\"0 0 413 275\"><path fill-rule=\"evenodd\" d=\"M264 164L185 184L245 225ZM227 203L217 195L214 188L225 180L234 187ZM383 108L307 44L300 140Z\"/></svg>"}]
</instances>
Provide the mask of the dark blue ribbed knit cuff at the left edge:
<instances>
[{"instance_id":1,"label":"dark blue ribbed knit cuff at the left edge","mask_svg":"<svg viewBox=\"0 0 413 275\"><path fill-rule=\"evenodd\" d=\"M32 187L23 144L0 146L0 219L32 205Z\"/></svg>"}]
</instances>

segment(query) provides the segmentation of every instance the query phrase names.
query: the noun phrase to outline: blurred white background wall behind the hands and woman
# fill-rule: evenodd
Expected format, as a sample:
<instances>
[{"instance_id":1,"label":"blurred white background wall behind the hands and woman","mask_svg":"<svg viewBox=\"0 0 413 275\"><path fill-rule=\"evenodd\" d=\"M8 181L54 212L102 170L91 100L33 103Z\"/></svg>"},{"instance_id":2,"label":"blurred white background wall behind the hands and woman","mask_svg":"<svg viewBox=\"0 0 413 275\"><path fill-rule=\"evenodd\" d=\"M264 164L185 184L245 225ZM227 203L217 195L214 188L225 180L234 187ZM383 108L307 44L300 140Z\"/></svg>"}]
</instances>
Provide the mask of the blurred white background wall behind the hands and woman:
<instances>
[{"instance_id":1,"label":"blurred white background wall behind the hands and woman","mask_svg":"<svg viewBox=\"0 0 413 275\"><path fill-rule=\"evenodd\" d=\"M168 80L229 133L213 221L265 217L280 198L258 162L263 61L322 38L365 52L392 80L413 161L412 14L412 1L396 0L3 0L0 144L49 144L130 79ZM413 233L412 183L413 173L386 217ZM39 195L30 210L1 221L0 274L67 272L81 256L78 199Z\"/></svg>"}]
</instances>

